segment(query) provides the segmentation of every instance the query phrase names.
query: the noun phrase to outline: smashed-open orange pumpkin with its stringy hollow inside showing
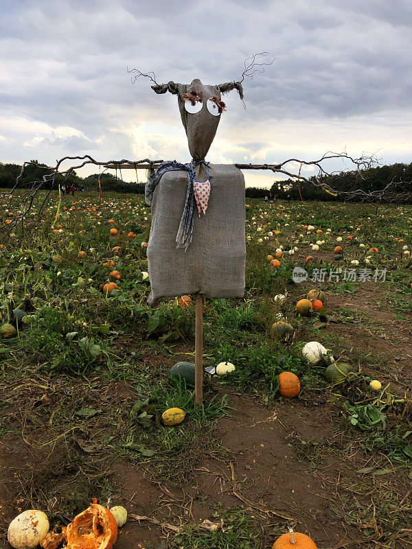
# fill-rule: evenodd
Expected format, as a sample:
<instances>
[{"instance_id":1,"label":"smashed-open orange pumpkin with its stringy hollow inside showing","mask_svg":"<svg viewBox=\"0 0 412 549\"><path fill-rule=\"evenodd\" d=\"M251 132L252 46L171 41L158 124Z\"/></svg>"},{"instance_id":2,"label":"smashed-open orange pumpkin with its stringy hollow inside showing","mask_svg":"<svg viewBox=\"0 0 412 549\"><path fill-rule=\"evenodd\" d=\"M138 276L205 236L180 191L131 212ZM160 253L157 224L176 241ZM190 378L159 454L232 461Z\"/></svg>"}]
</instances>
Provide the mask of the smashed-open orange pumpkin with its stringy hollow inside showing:
<instances>
[{"instance_id":1,"label":"smashed-open orange pumpkin with its stringy hollow inside showing","mask_svg":"<svg viewBox=\"0 0 412 549\"><path fill-rule=\"evenodd\" d=\"M94 502L67 525L67 549L113 548L117 539L116 519L106 507Z\"/></svg>"}]
</instances>

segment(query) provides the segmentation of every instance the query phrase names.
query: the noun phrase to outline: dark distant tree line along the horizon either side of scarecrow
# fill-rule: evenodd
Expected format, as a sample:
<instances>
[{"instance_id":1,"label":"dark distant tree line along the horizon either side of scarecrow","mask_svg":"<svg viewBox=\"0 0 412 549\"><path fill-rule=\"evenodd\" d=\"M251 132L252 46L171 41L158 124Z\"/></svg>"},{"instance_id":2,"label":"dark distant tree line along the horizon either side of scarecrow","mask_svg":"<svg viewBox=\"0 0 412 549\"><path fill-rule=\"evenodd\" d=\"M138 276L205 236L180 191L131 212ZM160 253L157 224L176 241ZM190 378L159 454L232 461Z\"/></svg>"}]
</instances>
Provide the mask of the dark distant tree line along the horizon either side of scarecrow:
<instances>
[{"instance_id":1,"label":"dark distant tree line along the horizon either side of scarecrow","mask_svg":"<svg viewBox=\"0 0 412 549\"><path fill-rule=\"evenodd\" d=\"M34 162L39 164L37 161ZM39 165L47 167L45 164ZM20 165L0 163L0 188L10 189L14 187L16 178L20 172ZM41 181L45 172L47 170L27 165L16 188L24 189L29 187L31 181ZM85 191L97 191L98 179L99 174L92 174L82 178L76 172L73 172L67 179L66 185L73 185L76 189L84 188ZM388 189L388 196L383 200L412 203L411 198L405 198L404 196L408 193L410 197L412 196L412 163L397 163L357 172L341 172L328 177L316 178L313 176L310 178L310 181L317 185L329 185L336 191L350 191L351 195L348 199L351 201L357 199L365 200L364 197L356 198L356 191L358 189L368 194ZM56 183L60 184L61 182L61 176L56 177ZM49 189L49 185L45 184L44 188ZM144 194L145 183L126 183L119 176L116 177L113 174L105 173L100 175L100 185L102 191ZM320 187L314 187L314 185L303 181L299 181L298 183L295 179L275 181L270 189L247 187L246 196L247 198L264 198L268 196L268 198L282 200L301 200L301 198L303 200L342 200L342 196L332 196ZM396 200L397 196L399 200ZM372 200L382 200L382 197L378 196Z\"/></svg>"}]
</instances>

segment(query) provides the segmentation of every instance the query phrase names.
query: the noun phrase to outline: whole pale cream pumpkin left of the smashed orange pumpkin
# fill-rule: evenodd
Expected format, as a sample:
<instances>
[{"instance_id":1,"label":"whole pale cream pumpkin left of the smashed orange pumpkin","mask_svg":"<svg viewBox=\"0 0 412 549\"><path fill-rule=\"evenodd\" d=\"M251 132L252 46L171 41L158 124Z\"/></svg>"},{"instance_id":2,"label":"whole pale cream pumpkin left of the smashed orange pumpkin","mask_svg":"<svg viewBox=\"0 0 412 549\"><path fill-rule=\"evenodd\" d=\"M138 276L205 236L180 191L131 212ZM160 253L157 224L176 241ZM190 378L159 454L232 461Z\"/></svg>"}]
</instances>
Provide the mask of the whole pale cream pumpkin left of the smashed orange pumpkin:
<instances>
[{"instance_id":1,"label":"whole pale cream pumpkin left of the smashed orange pumpkin","mask_svg":"<svg viewBox=\"0 0 412 549\"><path fill-rule=\"evenodd\" d=\"M14 549L33 549L49 531L49 519L43 511L29 509L10 522L7 538Z\"/></svg>"}]
</instances>

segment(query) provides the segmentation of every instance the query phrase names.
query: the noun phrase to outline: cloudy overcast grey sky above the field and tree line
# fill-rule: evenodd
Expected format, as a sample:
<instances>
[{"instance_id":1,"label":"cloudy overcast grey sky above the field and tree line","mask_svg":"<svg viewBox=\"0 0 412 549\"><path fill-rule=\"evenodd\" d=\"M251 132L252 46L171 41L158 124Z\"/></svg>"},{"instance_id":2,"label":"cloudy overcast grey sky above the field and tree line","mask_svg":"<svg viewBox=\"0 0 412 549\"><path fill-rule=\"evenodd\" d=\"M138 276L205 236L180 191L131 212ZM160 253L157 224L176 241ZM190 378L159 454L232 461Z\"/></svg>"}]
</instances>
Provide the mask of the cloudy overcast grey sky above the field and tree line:
<instances>
[{"instance_id":1,"label":"cloudy overcast grey sky above the field and tree line","mask_svg":"<svg viewBox=\"0 0 412 549\"><path fill-rule=\"evenodd\" d=\"M239 80L259 51L275 61L244 80L246 110L236 91L225 95L207 160L277 163L346 150L412 161L411 0L0 5L0 162L86 153L187 162L176 95L157 95L147 78L132 84L126 67L155 71L158 82L219 84ZM249 185L273 182L245 175Z\"/></svg>"}]
</instances>

